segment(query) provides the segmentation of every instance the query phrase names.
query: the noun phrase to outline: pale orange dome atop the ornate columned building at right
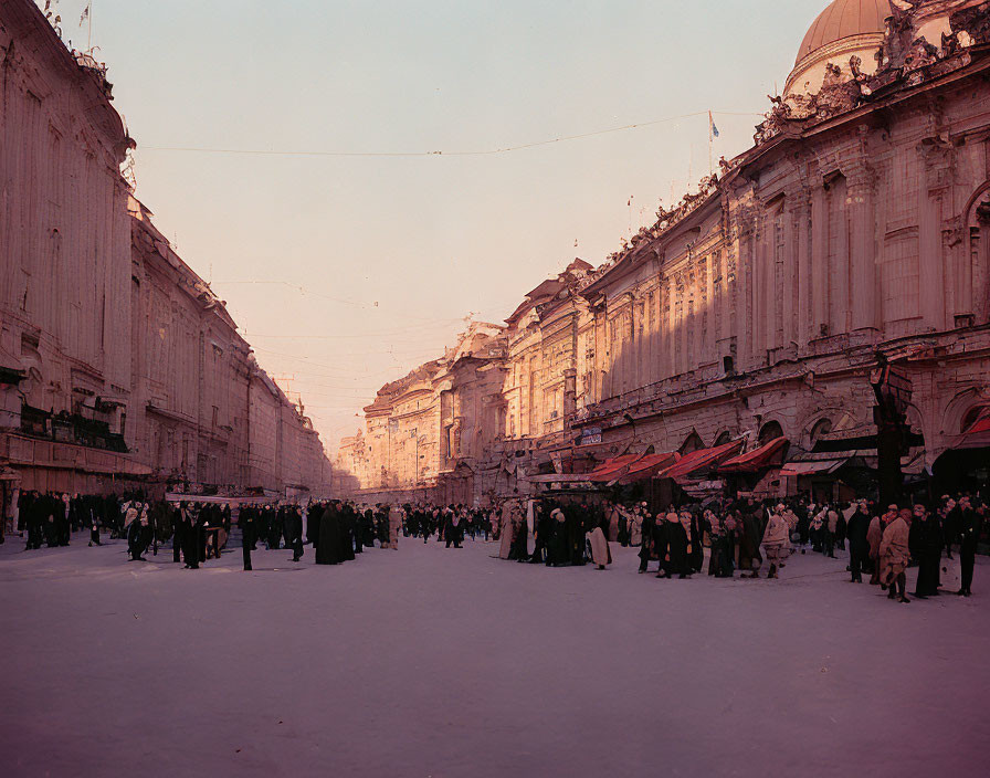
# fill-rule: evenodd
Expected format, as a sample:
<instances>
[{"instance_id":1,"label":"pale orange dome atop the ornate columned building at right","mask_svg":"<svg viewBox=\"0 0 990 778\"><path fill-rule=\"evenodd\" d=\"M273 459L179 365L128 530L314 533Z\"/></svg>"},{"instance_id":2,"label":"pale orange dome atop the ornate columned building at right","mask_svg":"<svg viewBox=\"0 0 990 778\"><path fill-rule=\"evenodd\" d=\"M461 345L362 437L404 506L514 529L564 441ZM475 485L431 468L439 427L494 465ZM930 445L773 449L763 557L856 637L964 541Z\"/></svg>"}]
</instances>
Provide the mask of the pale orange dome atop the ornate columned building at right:
<instances>
[{"instance_id":1,"label":"pale orange dome atop the ornate columned building at right","mask_svg":"<svg viewBox=\"0 0 990 778\"><path fill-rule=\"evenodd\" d=\"M784 94L814 93L821 88L825 64L831 62L849 74L853 55L864 73L876 70L873 55L880 49L891 15L888 0L833 0L808 30Z\"/></svg>"}]
</instances>

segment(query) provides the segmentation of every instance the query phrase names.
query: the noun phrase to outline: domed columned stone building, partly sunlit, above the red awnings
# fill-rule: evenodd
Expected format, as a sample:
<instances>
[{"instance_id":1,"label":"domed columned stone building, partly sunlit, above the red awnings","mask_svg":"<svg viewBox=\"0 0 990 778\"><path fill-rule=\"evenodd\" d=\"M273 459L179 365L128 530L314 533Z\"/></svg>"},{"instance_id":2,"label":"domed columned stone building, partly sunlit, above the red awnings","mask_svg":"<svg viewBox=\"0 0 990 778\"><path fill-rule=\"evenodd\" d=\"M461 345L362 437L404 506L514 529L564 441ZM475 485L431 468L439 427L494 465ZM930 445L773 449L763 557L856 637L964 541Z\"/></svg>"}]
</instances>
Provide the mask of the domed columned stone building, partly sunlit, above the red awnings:
<instances>
[{"instance_id":1,"label":"domed columned stone building, partly sunlit, above the red awnings","mask_svg":"<svg viewBox=\"0 0 990 778\"><path fill-rule=\"evenodd\" d=\"M990 404L988 229L990 3L835 0L750 149L509 317L476 500L739 440L789 441L781 491L875 467L881 362L905 472L938 475Z\"/></svg>"}]
</instances>

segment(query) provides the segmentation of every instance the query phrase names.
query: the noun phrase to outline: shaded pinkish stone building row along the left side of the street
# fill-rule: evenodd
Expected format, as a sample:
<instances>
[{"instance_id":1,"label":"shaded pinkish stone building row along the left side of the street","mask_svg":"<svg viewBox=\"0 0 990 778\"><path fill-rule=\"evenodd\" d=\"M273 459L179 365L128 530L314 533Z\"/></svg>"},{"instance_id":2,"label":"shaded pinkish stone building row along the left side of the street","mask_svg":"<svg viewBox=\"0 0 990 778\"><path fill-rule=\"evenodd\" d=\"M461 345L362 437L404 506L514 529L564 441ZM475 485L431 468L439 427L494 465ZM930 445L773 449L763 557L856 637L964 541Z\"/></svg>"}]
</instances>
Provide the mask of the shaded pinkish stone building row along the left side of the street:
<instances>
[{"instance_id":1,"label":"shaded pinkish stone building row along the left side of the street","mask_svg":"<svg viewBox=\"0 0 990 778\"><path fill-rule=\"evenodd\" d=\"M11 0L0 6L0 85L7 503L13 485L328 485L312 423L134 198L122 175L134 141L105 67L69 51L33 2Z\"/></svg>"}]
</instances>

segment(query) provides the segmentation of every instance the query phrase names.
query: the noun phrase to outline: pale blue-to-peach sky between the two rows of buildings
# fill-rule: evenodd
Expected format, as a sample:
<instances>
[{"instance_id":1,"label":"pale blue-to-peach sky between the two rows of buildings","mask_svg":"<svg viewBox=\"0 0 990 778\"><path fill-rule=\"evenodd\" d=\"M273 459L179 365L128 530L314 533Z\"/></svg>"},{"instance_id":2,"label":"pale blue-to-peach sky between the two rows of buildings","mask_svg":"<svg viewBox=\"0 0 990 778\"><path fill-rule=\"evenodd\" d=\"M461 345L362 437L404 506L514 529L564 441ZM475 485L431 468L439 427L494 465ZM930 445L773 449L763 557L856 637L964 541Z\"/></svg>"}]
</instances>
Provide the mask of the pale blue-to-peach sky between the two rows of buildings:
<instances>
[{"instance_id":1,"label":"pale blue-to-peach sky between the two rows of buildings","mask_svg":"<svg viewBox=\"0 0 990 778\"><path fill-rule=\"evenodd\" d=\"M85 4L56 3L80 49ZM92 33L138 144L137 197L260 364L295 377L333 456L462 317L501 322L652 224L708 172L707 116L451 153L710 109L730 158L826 4L94 0Z\"/></svg>"}]
</instances>

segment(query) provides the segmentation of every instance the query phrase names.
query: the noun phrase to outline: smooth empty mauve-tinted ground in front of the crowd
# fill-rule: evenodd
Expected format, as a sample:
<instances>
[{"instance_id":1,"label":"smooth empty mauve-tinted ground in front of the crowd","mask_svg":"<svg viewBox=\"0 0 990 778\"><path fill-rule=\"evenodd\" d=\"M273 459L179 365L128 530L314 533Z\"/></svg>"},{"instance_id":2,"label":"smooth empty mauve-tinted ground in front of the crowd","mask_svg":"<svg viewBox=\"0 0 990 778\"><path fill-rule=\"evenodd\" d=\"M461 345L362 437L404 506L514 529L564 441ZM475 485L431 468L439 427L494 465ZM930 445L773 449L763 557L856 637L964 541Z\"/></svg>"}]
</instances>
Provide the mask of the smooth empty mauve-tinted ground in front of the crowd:
<instances>
[{"instance_id":1,"label":"smooth empty mauve-tinted ground in front of the crowd","mask_svg":"<svg viewBox=\"0 0 990 778\"><path fill-rule=\"evenodd\" d=\"M75 538L0 546L3 776L988 774L983 558L972 598L899 604L841 551L682 581L621 548L548 569L403 538L243 572Z\"/></svg>"}]
</instances>

